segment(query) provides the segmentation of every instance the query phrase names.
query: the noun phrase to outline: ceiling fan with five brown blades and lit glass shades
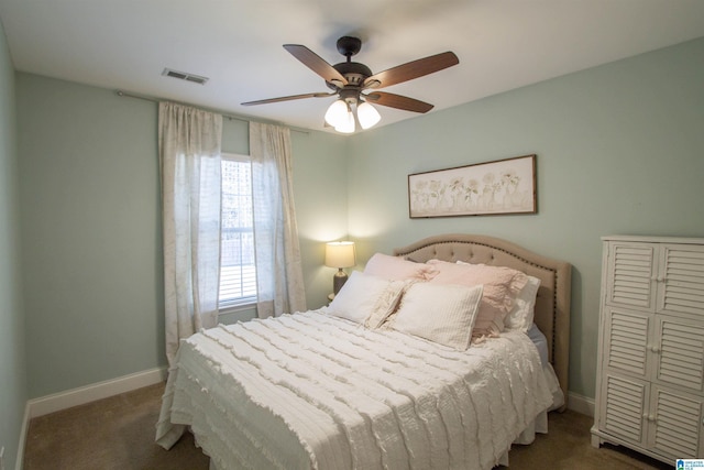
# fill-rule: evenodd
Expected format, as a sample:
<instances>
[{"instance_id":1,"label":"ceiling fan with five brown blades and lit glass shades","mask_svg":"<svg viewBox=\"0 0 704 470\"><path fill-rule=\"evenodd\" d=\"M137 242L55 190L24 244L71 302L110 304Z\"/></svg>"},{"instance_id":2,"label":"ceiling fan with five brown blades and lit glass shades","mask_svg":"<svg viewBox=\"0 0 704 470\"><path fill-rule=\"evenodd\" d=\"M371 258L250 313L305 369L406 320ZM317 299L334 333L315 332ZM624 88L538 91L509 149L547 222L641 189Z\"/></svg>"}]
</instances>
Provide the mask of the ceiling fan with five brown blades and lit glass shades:
<instances>
[{"instance_id":1,"label":"ceiling fan with five brown blades and lit glass shades","mask_svg":"<svg viewBox=\"0 0 704 470\"><path fill-rule=\"evenodd\" d=\"M242 105L265 105L304 98L328 98L337 95L339 98L326 112L326 123L334 127L338 132L350 133L354 132L355 120L359 121L363 129L369 129L380 121L381 116L371 103L413 112L430 111L433 107L430 103L400 95L376 91L376 89L413 80L460 63L454 53L443 52L380 72L378 74L372 74L372 70L366 65L352 62L352 56L356 55L362 48L360 39L343 36L338 40L337 46L338 52L346 57L346 62L330 65L304 45L284 44L286 51L326 80L328 88L332 89L331 92L293 95L248 101ZM353 109L355 112L353 112Z\"/></svg>"}]
</instances>

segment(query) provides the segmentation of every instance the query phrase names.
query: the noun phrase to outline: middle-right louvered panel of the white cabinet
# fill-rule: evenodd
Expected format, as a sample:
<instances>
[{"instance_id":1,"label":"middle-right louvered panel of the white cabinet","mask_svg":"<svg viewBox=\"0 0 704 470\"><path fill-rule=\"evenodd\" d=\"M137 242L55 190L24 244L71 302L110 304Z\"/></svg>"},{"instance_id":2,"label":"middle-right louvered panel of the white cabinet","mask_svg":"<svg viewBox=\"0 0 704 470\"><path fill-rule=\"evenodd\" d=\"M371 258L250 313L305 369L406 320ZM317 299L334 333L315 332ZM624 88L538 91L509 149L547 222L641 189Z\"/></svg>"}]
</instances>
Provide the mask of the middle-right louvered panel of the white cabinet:
<instances>
[{"instance_id":1,"label":"middle-right louvered panel of the white cabinet","mask_svg":"<svg viewBox=\"0 0 704 470\"><path fill-rule=\"evenodd\" d=\"M704 392L704 323L657 316L656 374L661 384Z\"/></svg>"}]
</instances>

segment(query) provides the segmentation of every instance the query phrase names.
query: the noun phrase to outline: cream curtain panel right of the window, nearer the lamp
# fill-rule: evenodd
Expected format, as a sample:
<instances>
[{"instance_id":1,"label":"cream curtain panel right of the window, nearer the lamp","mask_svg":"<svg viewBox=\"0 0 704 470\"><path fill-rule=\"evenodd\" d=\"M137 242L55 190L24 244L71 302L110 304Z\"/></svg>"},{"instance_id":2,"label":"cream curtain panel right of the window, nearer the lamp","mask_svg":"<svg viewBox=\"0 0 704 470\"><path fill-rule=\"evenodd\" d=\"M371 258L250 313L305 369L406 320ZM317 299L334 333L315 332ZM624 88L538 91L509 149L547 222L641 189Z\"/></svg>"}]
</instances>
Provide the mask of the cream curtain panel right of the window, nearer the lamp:
<instances>
[{"instance_id":1,"label":"cream curtain panel right of the window, nearer the lamp","mask_svg":"<svg viewBox=\"0 0 704 470\"><path fill-rule=\"evenodd\" d=\"M250 123L260 318L306 310L294 208L290 130Z\"/></svg>"}]
</instances>

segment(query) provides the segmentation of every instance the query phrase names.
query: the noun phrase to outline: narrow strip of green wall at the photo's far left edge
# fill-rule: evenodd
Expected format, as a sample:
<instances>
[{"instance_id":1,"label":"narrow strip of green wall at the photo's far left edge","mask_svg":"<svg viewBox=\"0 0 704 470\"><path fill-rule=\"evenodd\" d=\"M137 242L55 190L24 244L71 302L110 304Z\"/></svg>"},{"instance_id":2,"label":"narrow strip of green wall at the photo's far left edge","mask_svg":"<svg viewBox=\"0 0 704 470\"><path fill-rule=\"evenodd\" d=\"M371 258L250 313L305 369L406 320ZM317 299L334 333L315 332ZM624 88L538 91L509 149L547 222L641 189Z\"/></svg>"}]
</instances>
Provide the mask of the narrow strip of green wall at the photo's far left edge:
<instances>
[{"instance_id":1,"label":"narrow strip of green wall at the photo's far left edge","mask_svg":"<svg viewBox=\"0 0 704 470\"><path fill-rule=\"evenodd\" d=\"M20 231L14 70L0 23L0 447L14 468L28 400Z\"/></svg>"}]
</instances>

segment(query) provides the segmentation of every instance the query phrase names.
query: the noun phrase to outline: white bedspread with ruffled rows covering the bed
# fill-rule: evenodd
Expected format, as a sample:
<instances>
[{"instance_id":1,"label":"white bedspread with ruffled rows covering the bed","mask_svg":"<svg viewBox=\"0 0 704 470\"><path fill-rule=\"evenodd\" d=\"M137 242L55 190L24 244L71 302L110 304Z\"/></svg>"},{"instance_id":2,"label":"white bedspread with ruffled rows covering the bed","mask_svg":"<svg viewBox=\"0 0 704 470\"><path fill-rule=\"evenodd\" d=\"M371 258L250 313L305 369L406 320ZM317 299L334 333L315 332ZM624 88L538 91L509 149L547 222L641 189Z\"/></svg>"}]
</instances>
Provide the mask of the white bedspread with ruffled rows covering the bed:
<instances>
[{"instance_id":1,"label":"white bedspread with ruffled rows covering the bed","mask_svg":"<svg viewBox=\"0 0 704 470\"><path fill-rule=\"evenodd\" d=\"M525 334L453 349L323 310L182 341L156 440L218 469L490 469L552 403Z\"/></svg>"}]
</instances>

